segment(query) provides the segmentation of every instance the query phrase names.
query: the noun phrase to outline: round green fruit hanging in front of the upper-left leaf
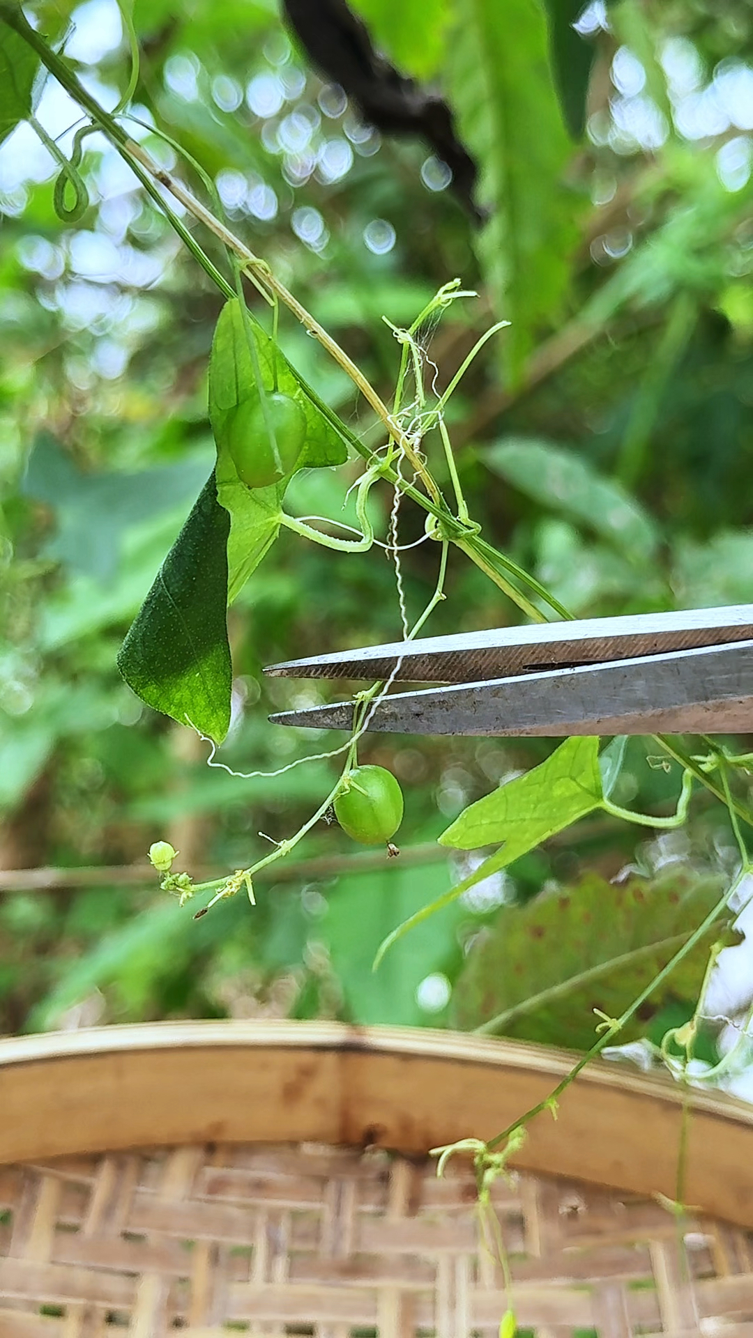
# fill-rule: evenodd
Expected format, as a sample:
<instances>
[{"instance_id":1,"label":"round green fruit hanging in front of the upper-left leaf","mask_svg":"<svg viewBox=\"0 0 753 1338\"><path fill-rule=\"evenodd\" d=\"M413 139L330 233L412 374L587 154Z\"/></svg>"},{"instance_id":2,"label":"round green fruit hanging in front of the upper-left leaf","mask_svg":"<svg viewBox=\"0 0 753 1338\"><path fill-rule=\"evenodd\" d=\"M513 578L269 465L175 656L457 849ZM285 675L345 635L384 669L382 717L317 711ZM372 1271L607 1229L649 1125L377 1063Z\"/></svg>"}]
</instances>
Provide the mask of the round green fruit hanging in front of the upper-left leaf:
<instances>
[{"instance_id":1,"label":"round green fruit hanging in front of the upper-left leaf","mask_svg":"<svg viewBox=\"0 0 753 1338\"><path fill-rule=\"evenodd\" d=\"M269 439L268 421L275 432ZM238 479L249 488L268 488L295 470L305 442L305 413L289 395L243 400L228 417L228 448Z\"/></svg>"}]
</instances>

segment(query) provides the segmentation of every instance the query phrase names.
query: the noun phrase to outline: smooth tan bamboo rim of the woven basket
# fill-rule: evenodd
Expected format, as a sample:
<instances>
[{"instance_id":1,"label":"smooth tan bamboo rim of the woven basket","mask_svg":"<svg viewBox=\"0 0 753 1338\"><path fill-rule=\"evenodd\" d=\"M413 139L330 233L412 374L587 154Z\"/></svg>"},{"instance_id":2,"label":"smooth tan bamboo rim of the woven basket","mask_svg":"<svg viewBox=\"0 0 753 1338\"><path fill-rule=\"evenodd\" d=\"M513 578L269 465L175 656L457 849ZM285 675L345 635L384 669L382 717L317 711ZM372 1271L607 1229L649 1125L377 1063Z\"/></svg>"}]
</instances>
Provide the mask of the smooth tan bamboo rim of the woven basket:
<instances>
[{"instance_id":1,"label":"smooth tan bamboo rim of the woven basket","mask_svg":"<svg viewBox=\"0 0 753 1338\"><path fill-rule=\"evenodd\" d=\"M201 1056L197 1062L197 1054ZM208 1143L383 1147L425 1157L489 1139L575 1056L454 1032L336 1022L181 1021L0 1040L0 1165ZM529 1125L513 1165L674 1198L753 1228L753 1105L594 1061Z\"/></svg>"}]
</instances>

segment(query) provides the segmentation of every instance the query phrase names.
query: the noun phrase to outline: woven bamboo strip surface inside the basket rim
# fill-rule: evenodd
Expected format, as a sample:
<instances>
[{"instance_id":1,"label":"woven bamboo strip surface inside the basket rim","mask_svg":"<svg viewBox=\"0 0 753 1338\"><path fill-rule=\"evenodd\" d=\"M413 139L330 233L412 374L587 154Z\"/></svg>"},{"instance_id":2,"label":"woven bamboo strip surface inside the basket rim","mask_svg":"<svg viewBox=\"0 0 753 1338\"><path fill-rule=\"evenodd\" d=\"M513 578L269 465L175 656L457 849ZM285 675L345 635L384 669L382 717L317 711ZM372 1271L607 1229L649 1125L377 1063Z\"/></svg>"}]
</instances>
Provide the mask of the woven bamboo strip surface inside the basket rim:
<instances>
[{"instance_id":1,"label":"woven bamboo strip surface inside the basket rim","mask_svg":"<svg viewBox=\"0 0 753 1338\"><path fill-rule=\"evenodd\" d=\"M753 1334L749 1235L528 1173L484 1246L468 1164L296 1145L0 1168L1 1338ZM690 1280L689 1280L690 1279ZM748 1322L748 1323L746 1323Z\"/></svg>"}]
</instances>

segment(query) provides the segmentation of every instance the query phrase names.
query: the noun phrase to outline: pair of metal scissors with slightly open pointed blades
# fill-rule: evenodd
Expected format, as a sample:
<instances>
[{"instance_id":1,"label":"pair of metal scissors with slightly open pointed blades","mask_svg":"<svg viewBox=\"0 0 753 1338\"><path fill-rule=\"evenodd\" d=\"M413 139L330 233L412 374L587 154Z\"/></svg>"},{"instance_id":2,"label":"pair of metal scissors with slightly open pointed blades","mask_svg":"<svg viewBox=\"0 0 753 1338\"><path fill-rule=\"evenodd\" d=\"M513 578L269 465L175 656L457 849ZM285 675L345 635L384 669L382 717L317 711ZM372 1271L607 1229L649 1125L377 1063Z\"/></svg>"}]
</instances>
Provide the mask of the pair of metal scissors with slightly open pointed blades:
<instances>
[{"instance_id":1,"label":"pair of metal scissors with slightly open pointed blades","mask_svg":"<svg viewBox=\"0 0 753 1338\"><path fill-rule=\"evenodd\" d=\"M389 692L370 731L406 735L753 733L753 603L496 628L269 665L287 678L433 684ZM352 729L354 701L269 717Z\"/></svg>"}]
</instances>

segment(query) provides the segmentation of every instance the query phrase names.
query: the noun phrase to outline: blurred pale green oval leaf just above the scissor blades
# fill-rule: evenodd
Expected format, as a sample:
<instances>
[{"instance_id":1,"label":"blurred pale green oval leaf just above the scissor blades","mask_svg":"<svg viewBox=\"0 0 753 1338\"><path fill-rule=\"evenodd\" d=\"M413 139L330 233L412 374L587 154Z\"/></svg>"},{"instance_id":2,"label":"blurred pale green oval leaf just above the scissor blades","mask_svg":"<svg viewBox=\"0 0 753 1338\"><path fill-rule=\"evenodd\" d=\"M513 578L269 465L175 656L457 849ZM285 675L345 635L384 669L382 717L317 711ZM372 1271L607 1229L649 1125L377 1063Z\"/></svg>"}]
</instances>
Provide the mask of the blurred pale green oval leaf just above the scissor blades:
<instances>
[{"instance_id":1,"label":"blurred pale green oval leaf just above the scissor blades","mask_svg":"<svg viewBox=\"0 0 753 1338\"><path fill-rule=\"evenodd\" d=\"M655 550L657 530L646 511L575 451L533 438L506 438L480 456L494 474L547 510L595 530L640 562Z\"/></svg>"}]
</instances>

